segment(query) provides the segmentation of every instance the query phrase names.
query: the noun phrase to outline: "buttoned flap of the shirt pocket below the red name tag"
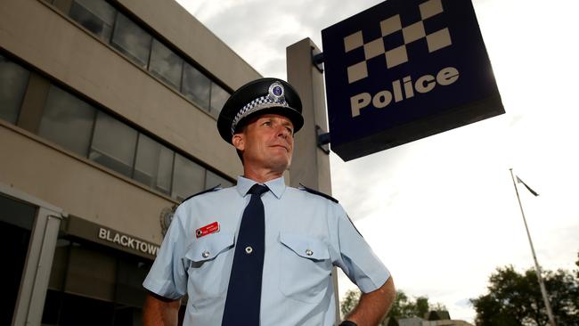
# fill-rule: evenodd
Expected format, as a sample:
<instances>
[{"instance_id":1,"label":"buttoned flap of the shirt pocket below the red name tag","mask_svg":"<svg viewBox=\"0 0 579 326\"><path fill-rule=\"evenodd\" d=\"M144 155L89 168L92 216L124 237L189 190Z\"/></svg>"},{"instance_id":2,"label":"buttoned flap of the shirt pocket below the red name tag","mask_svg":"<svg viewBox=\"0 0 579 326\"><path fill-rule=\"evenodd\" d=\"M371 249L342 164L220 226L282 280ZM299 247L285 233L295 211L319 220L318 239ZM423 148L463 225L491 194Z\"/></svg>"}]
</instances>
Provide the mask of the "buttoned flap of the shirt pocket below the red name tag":
<instances>
[{"instance_id":1,"label":"buttoned flap of the shirt pocket below the red name tag","mask_svg":"<svg viewBox=\"0 0 579 326\"><path fill-rule=\"evenodd\" d=\"M196 239L187 250L185 258L193 262L211 260L233 247L235 242L233 233L218 232Z\"/></svg>"}]
</instances>

